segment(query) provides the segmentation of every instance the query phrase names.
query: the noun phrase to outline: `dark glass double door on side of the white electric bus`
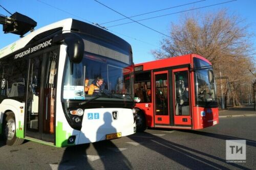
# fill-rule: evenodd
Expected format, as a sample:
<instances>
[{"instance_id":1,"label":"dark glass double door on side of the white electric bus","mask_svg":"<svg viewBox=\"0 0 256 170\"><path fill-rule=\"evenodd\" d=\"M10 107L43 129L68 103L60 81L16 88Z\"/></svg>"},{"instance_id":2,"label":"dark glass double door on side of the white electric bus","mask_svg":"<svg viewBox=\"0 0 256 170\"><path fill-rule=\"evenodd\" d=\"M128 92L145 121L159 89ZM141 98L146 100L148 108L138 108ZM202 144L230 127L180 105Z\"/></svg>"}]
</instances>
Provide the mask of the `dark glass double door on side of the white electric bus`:
<instances>
[{"instance_id":1,"label":"dark glass double door on side of the white electric bus","mask_svg":"<svg viewBox=\"0 0 256 170\"><path fill-rule=\"evenodd\" d=\"M30 59L26 104L26 137L54 142L56 53Z\"/></svg>"}]
</instances>

